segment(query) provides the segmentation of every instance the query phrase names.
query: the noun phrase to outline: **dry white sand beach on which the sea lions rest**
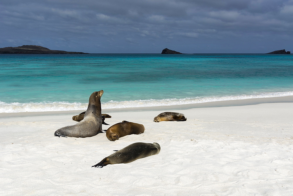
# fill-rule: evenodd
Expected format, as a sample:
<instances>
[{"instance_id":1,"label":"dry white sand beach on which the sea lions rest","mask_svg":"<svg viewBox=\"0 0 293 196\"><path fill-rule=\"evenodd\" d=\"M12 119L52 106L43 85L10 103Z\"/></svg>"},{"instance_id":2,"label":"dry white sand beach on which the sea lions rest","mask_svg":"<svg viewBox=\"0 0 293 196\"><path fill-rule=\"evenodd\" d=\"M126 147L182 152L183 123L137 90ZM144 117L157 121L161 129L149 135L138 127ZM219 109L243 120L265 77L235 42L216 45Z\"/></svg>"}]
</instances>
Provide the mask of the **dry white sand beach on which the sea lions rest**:
<instances>
[{"instance_id":1,"label":"dry white sand beach on which the sea lions rest","mask_svg":"<svg viewBox=\"0 0 293 196\"><path fill-rule=\"evenodd\" d=\"M293 103L162 111L104 111L113 125L143 124L140 135L59 138L72 115L1 114L0 195L292 195ZM162 121L164 111L187 121ZM52 114L52 115L51 115ZM78 113L77 113L78 114ZM103 125L106 130L110 125ZM92 168L134 142L161 152Z\"/></svg>"}]
</instances>

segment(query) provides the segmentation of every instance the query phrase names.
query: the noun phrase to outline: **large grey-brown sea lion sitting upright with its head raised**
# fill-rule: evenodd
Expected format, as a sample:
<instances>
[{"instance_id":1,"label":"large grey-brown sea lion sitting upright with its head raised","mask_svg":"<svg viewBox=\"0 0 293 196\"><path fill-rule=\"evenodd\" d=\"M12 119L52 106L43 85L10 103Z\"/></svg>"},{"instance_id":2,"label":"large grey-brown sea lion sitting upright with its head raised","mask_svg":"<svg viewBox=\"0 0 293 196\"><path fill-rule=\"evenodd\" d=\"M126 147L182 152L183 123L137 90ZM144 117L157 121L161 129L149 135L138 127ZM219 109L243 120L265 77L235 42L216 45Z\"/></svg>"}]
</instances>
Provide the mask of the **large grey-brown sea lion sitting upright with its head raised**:
<instances>
[{"instance_id":1,"label":"large grey-brown sea lion sitting upright with its head raised","mask_svg":"<svg viewBox=\"0 0 293 196\"><path fill-rule=\"evenodd\" d=\"M101 96L104 91L93 92L88 100L88 108L84 114L84 120L62 127L55 131L54 136L85 138L102 133Z\"/></svg>"}]
</instances>

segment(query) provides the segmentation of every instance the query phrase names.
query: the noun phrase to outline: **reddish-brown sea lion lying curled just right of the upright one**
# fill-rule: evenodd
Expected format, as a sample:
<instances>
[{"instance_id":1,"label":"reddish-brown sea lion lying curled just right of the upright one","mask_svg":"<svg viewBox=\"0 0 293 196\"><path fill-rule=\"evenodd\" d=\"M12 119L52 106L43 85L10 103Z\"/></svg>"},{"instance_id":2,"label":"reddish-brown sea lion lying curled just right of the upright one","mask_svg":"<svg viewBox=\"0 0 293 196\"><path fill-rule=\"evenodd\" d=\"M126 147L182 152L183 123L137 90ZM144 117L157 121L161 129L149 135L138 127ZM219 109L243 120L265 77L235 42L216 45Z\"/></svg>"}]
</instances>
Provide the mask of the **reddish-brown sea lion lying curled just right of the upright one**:
<instances>
[{"instance_id":1,"label":"reddish-brown sea lion lying curled just right of the upright one","mask_svg":"<svg viewBox=\"0 0 293 196\"><path fill-rule=\"evenodd\" d=\"M144 126L128 121L122 121L121 123L110 126L106 131L106 136L110 141L118 140L121 137L131 134L142 134L144 132Z\"/></svg>"}]
</instances>

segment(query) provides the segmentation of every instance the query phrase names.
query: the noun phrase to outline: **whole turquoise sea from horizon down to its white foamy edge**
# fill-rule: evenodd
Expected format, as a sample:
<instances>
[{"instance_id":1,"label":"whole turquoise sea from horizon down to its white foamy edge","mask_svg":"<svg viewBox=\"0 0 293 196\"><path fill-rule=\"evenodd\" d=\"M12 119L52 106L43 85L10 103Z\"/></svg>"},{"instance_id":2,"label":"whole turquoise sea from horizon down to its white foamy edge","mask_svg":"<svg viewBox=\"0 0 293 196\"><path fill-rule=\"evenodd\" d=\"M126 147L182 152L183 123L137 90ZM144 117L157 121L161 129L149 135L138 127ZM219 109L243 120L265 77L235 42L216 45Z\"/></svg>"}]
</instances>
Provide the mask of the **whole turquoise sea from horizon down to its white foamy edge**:
<instances>
[{"instance_id":1,"label":"whole turquoise sea from horizon down to its white foamy edge","mask_svg":"<svg viewBox=\"0 0 293 196\"><path fill-rule=\"evenodd\" d=\"M293 95L293 55L1 54L0 112L85 110Z\"/></svg>"}]
</instances>

